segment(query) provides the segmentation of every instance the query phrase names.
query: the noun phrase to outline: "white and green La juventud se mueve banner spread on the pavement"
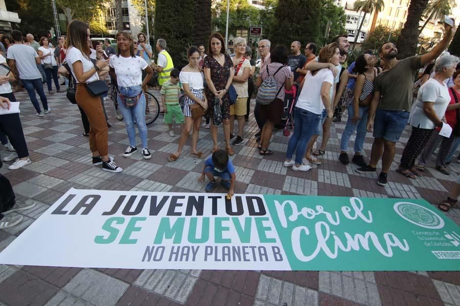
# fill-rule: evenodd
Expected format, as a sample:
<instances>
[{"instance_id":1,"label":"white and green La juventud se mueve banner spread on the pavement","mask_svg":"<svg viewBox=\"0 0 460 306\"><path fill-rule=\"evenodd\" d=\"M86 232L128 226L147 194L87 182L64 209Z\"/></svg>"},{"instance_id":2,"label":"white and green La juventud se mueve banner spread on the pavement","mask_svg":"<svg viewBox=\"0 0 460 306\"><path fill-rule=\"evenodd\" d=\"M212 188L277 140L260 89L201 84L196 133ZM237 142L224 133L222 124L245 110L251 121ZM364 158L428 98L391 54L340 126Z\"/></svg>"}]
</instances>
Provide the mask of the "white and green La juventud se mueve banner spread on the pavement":
<instances>
[{"instance_id":1,"label":"white and green La juventud se mueve banner spread on the pavement","mask_svg":"<svg viewBox=\"0 0 460 306\"><path fill-rule=\"evenodd\" d=\"M0 263L446 271L460 267L460 228L422 199L71 189Z\"/></svg>"}]
</instances>

